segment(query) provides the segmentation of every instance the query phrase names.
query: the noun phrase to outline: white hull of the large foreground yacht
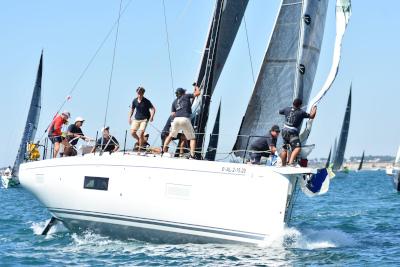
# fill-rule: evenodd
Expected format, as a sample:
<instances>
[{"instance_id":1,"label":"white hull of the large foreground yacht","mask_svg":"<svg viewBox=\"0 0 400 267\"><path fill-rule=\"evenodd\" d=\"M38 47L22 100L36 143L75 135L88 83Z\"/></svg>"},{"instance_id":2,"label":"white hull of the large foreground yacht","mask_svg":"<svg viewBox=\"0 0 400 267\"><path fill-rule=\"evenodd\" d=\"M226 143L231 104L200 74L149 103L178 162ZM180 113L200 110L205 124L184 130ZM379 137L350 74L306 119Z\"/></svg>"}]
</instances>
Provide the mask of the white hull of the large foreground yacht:
<instances>
[{"instance_id":1,"label":"white hull of the large foreground yacht","mask_svg":"<svg viewBox=\"0 0 400 267\"><path fill-rule=\"evenodd\" d=\"M298 178L312 172L116 153L25 163L19 176L73 231L168 243L269 243L290 217ZM107 190L84 188L91 179L101 188L107 178Z\"/></svg>"}]
</instances>

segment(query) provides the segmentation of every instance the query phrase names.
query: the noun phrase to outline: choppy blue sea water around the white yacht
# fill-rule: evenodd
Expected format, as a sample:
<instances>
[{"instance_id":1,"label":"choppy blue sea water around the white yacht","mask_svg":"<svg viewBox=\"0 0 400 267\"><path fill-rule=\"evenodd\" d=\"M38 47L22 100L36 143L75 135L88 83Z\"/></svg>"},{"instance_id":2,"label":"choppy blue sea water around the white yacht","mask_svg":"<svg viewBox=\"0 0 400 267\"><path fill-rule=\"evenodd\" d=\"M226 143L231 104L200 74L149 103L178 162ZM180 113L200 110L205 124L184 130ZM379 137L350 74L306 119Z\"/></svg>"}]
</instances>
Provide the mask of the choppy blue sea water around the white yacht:
<instances>
[{"instance_id":1,"label":"choppy blue sea water around the white yacht","mask_svg":"<svg viewBox=\"0 0 400 267\"><path fill-rule=\"evenodd\" d=\"M30 193L0 189L0 203L1 266L400 264L400 194L381 171L339 174L324 196L301 193L291 227L272 247L156 245L73 234L62 226L43 237L50 215Z\"/></svg>"}]
</instances>

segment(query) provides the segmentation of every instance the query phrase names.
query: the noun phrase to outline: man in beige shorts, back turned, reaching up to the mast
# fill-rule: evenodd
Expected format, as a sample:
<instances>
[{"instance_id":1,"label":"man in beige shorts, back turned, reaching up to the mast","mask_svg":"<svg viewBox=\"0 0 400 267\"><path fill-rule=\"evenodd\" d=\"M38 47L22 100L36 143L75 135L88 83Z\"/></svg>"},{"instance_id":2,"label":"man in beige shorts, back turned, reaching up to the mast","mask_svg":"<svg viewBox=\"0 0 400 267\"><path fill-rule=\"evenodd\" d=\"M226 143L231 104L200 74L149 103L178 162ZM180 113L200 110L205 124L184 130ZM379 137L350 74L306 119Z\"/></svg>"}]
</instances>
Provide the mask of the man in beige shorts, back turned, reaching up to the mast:
<instances>
[{"instance_id":1,"label":"man in beige shorts, back turned, reaching up to the mast","mask_svg":"<svg viewBox=\"0 0 400 267\"><path fill-rule=\"evenodd\" d=\"M165 139L163 152L168 151L168 144L172 138L176 138L180 131L183 132L187 140L190 140L190 157L194 158L196 149L196 136L190 121L192 115L192 102L191 99L200 95L199 87L195 86L193 94L186 94L186 90L178 88L175 91L176 99L172 103L172 116L174 120L171 124L171 131Z\"/></svg>"}]
</instances>

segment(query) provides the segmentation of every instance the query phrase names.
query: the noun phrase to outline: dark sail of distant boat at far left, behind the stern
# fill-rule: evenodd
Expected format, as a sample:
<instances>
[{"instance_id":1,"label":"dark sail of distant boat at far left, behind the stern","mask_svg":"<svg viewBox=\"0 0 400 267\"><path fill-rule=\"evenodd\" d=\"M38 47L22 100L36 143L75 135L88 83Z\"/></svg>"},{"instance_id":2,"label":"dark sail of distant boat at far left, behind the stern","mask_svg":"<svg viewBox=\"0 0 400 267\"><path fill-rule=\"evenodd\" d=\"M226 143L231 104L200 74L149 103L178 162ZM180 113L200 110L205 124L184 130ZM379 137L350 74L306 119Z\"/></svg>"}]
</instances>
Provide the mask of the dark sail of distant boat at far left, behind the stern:
<instances>
[{"instance_id":1,"label":"dark sail of distant boat at far left, behind the stern","mask_svg":"<svg viewBox=\"0 0 400 267\"><path fill-rule=\"evenodd\" d=\"M36 74L35 87L29 106L28 117L25 123L24 133L22 135L21 144L19 145L18 154L15 158L14 166L12 169L13 176L18 176L19 165L25 160L26 145L35 139L36 130L39 123L39 115L41 109L41 94L42 94L42 68L43 68L43 51L40 55L39 67Z\"/></svg>"}]
</instances>

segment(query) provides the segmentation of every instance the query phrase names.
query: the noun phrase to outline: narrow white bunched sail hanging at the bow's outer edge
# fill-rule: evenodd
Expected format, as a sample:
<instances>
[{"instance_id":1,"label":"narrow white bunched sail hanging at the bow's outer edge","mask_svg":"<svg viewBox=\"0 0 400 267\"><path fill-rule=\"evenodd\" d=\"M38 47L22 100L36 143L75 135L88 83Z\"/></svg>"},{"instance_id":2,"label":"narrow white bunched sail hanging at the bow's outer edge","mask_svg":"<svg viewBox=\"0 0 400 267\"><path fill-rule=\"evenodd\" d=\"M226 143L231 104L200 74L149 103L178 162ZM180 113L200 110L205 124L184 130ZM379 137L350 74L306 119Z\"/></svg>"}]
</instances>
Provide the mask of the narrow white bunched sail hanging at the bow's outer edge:
<instances>
[{"instance_id":1,"label":"narrow white bunched sail hanging at the bow's outer edge","mask_svg":"<svg viewBox=\"0 0 400 267\"><path fill-rule=\"evenodd\" d=\"M344 33L346 31L347 24L351 16L351 1L350 0L337 0L336 1L336 39L335 46L333 50L333 60L332 66L329 71L328 77L322 86L318 94L310 101L308 108L311 109L312 106L317 105L319 101L324 97L324 95L331 88L333 82L339 71L339 63L342 49L342 40ZM308 136L310 135L313 120L308 120L306 127L300 135L300 140L302 143L306 143Z\"/></svg>"}]
</instances>

